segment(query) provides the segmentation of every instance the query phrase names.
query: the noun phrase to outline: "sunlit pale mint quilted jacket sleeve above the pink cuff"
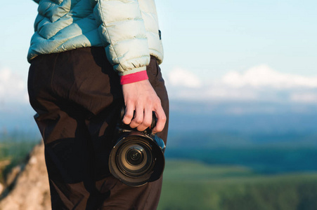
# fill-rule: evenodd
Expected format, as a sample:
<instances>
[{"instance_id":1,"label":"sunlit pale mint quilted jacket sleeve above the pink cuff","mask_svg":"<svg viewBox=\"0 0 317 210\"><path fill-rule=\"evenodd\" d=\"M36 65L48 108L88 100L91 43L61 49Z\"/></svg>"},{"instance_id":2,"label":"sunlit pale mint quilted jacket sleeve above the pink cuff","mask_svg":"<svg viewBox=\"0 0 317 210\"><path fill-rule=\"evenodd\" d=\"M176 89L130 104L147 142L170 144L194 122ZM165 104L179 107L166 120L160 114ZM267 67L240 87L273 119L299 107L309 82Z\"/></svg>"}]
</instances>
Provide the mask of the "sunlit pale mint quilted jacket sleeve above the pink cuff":
<instances>
[{"instance_id":1,"label":"sunlit pale mint quilted jacket sleeve above the pink cuff","mask_svg":"<svg viewBox=\"0 0 317 210\"><path fill-rule=\"evenodd\" d=\"M108 60L120 76L144 71L150 52L138 0L95 0L93 8Z\"/></svg>"}]
</instances>

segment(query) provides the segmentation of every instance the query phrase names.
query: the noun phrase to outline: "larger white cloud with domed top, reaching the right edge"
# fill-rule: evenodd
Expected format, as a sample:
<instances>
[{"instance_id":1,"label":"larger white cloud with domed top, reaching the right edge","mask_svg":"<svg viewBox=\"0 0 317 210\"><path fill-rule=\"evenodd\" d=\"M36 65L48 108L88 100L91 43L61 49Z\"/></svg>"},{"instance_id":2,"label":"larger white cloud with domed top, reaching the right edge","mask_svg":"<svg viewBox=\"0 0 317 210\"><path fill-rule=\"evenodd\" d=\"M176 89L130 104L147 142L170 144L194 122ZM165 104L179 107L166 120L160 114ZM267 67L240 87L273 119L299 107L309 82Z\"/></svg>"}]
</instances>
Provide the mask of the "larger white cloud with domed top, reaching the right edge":
<instances>
[{"instance_id":1,"label":"larger white cloud with domed top, reaching the right edge","mask_svg":"<svg viewBox=\"0 0 317 210\"><path fill-rule=\"evenodd\" d=\"M272 87L289 89L295 87L317 87L317 77L305 77L290 73L280 73L269 66L254 66L243 73L231 71L222 79L223 83L232 87Z\"/></svg>"}]
</instances>

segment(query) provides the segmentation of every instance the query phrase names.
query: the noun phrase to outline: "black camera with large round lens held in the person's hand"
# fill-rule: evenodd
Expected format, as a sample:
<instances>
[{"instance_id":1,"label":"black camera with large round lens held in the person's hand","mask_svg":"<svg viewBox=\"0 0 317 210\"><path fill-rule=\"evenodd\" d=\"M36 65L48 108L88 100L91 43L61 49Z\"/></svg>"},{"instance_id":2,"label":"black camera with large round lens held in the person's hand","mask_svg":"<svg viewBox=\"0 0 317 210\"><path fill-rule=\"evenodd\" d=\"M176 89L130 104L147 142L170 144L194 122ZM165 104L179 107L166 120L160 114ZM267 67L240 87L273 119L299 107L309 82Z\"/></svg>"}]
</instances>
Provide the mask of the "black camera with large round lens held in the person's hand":
<instances>
[{"instance_id":1,"label":"black camera with large round lens held in the person's hand","mask_svg":"<svg viewBox=\"0 0 317 210\"><path fill-rule=\"evenodd\" d=\"M151 126L143 132L122 123L123 116L124 109L117 123L114 146L110 152L110 173L133 187L160 179L165 165L165 144L157 134L152 133L156 124L155 114Z\"/></svg>"}]
</instances>

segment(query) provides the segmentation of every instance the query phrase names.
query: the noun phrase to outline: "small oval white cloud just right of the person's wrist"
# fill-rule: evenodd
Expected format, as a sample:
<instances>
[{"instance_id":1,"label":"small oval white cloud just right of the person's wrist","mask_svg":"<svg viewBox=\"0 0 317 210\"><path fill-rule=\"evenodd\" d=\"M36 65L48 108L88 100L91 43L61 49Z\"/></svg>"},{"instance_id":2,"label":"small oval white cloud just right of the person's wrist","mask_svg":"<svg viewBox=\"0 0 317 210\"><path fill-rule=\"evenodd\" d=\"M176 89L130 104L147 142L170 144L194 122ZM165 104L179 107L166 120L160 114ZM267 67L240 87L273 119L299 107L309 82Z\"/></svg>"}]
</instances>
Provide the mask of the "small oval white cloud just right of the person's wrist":
<instances>
[{"instance_id":1,"label":"small oval white cloud just right of the person's wrist","mask_svg":"<svg viewBox=\"0 0 317 210\"><path fill-rule=\"evenodd\" d=\"M198 76L188 70L180 68L173 69L169 73L168 81L173 86L197 88L202 85Z\"/></svg>"}]
</instances>

